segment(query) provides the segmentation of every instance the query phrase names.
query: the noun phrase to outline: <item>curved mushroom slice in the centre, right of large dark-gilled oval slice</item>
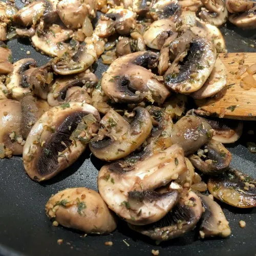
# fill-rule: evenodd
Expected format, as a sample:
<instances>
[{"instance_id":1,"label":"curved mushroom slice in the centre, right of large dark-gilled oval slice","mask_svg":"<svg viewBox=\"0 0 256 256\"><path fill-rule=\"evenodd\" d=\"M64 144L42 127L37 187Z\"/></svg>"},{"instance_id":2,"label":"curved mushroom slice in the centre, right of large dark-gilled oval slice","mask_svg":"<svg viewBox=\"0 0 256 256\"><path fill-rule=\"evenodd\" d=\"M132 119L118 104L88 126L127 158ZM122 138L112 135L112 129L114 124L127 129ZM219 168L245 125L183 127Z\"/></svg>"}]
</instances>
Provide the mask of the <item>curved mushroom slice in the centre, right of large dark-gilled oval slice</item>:
<instances>
[{"instance_id":1,"label":"curved mushroom slice in the centre, right of large dark-gilled oval slice","mask_svg":"<svg viewBox=\"0 0 256 256\"><path fill-rule=\"evenodd\" d=\"M94 138L95 141L89 144L94 156L105 161L120 159L135 151L146 140L152 129L150 114L141 107L134 111L136 114L129 120L130 123L113 110L106 113L100 121L106 137Z\"/></svg>"}]
</instances>

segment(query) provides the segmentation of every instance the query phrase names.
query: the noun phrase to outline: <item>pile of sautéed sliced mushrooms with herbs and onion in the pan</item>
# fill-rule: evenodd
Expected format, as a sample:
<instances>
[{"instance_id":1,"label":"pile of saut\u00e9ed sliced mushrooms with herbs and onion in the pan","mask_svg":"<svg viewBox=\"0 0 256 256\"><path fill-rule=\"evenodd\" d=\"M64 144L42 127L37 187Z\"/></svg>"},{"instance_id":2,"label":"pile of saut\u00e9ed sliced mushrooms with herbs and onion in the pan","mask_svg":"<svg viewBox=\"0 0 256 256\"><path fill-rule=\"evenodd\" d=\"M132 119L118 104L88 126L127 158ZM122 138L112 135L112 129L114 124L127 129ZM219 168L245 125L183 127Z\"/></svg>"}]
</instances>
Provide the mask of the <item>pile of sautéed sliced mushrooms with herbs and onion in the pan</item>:
<instances>
[{"instance_id":1,"label":"pile of saut\u00e9ed sliced mushrooms with herbs and onion in the pan","mask_svg":"<svg viewBox=\"0 0 256 256\"><path fill-rule=\"evenodd\" d=\"M0 5L0 158L23 155L35 182L66 172L87 145L104 161L99 193L63 188L49 199L46 214L54 226L108 234L119 217L159 242L197 225L201 239L225 238L231 229L218 202L256 206L256 181L230 166L225 147L240 138L243 123L188 105L226 86L227 70L218 57L226 47L218 27L229 20L256 28L255 3ZM40 67L33 58L12 63L5 41L15 37L28 37L53 58ZM100 57L110 66L96 77L92 65Z\"/></svg>"}]
</instances>

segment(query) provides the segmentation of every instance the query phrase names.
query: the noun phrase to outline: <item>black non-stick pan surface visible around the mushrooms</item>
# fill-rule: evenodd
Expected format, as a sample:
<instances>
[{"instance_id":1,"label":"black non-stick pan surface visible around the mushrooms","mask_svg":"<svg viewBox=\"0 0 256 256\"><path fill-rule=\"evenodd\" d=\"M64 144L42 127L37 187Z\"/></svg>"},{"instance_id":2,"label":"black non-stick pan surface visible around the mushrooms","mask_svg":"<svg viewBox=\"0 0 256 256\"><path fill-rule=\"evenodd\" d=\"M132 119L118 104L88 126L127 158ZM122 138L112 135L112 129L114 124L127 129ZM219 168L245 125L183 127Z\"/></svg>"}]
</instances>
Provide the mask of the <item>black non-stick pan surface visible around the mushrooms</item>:
<instances>
[{"instance_id":1,"label":"black non-stick pan surface visible around the mushrooms","mask_svg":"<svg viewBox=\"0 0 256 256\"><path fill-rule=\"evenodd\" d=\"M21 7L20 2L16 3ZM222 29L229 52L255 52L249 45L255 44L255 31L242 31L234 27ZM8 42L13 61L29 57L43 65L48 57L36 52L29 40ZM256 47L256 45L255 45ZM98 61L96 75L101 76L105 67ZM238 95L239 97L239 95ZM249 153L246 142L254 141L256 122L245 122L244 134L233 145L228 145L232 153L232 166L256 178L256 155ZM229 221L232 234L227 239L199 240L198 230L184 237L170 240L160 245L131 231L121 222L117 230L108 236L86 236L84 233L63 227L53 227L45 215L45 204L52 194L67 187L85 186L97 190L97 175L102 162L89 151L84 153L71 167L49 181L40 184L26 175L21 157L0 160L0 255L151 255L152 249L160 255L255 255L256 254L256 209L238 209L221 203ZM239 221L246 227L241 228ZM63 239L61 245L58 239ZM112 241L113 246L104 242ZM130 246L128 246L126 243Z\"/></svg>"}]
</instances>

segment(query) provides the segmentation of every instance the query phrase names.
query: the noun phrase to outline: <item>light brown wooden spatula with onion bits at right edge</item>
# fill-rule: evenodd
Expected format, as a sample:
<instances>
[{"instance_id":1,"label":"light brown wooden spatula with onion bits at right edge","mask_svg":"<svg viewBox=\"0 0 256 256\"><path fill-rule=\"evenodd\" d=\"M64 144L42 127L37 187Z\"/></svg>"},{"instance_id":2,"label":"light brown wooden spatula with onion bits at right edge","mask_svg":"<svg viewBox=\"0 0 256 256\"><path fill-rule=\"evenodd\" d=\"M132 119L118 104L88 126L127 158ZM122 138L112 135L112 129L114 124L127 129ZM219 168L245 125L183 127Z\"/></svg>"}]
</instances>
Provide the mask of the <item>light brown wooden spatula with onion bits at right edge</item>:
<instances>
[{"instance_id":1,"label":"light brown wooden spatula with onion bits at right edge","mask_svg":"<svg viewBox=\"0 0 256 256\"><path fill-rule=\"evenodd\" d=\"M236 78L238 66L243 60L244 65L248 66L256 63L256 52L222 53L219 56L228 73L226 87L215 97L196 100L197 106L210 114L217 114L217 116L224 118L256 120L256 88L244 90L240 86L241 79ZM247 75L248 73L245 72L242 78ZM253 77L256 80L256 74Z\"/></svg>"}]
</instances>

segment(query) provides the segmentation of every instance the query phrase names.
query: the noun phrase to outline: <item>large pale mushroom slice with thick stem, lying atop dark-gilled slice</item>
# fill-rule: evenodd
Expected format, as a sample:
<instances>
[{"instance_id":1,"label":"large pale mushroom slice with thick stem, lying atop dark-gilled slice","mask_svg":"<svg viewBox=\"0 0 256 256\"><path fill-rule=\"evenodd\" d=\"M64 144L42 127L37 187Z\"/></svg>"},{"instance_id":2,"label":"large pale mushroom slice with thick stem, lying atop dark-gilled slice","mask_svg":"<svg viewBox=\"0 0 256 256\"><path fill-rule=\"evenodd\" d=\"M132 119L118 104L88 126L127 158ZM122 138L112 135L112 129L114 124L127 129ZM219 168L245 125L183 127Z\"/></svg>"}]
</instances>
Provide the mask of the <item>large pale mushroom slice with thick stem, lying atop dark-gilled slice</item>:
<instances>
[{"instance_id":1,"label":"large pale mushroom slice with thick stem, lying atop dark-gilled slice","mask_svg":"<svg viewBox=\"0 0 256 256\"><path fill-rule=\"evenodd\" d=\"M98 175L99 193L125 221L135 225L153 223L179 199L178 190L160 194L153 189L166 185L185 170L182 148L173 145L136 164L120 160L104 165Z\"/></svg>"}]
</instances>

